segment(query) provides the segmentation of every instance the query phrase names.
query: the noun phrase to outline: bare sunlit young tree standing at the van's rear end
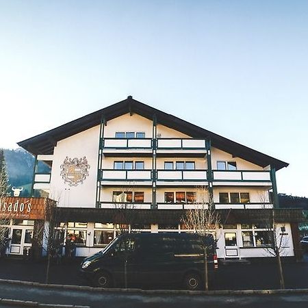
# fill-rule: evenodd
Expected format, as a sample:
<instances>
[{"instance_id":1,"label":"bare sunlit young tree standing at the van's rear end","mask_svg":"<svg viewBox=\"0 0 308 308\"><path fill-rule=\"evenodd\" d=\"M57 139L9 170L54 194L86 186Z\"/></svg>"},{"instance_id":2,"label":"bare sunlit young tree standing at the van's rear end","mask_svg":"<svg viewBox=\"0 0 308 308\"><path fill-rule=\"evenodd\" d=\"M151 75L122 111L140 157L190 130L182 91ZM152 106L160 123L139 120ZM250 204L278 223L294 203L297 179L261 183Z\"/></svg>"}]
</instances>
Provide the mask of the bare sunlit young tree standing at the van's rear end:
<instances>
[{"instance_id":1,"label":"bare sunlit young tree standing at the van's rear end","mask_svg":"<svg viewBox=\"0 0 308 308\"><path fill-rule=\"evenodd\" d=\"M209 290L207 255L209 249L215 249L213 247L215 242L211 240L211 236L213 236L216 227L220 224L220 216L215 209L213 196L209 194L207 188L201 187L196 189L196 207L186 211L183 222L187 229L191 229L198 235L201 235L205 261L205 290Z\"/></svg>"}]
</instances>

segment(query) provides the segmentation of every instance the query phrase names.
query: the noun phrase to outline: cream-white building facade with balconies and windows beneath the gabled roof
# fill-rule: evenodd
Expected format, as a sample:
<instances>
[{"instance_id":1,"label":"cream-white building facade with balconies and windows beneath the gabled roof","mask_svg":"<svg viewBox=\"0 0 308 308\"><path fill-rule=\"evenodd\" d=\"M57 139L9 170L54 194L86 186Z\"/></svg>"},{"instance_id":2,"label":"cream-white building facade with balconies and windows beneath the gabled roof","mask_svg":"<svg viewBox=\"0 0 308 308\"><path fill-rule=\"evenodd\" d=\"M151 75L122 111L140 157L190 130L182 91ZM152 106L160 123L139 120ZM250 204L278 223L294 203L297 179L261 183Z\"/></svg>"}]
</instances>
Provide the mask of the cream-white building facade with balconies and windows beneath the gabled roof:
<instances>
[{"instance_id":1,"label":"cream-white building facade with balconies and windows beneath the gabled roof","mask_svg":"<svg viewBox=\"0 0 308 308\"><path fill-rule=\"evenodd\" d=\"M215 147L211 147L209 152L205 139L194 139L161 124L154 127L153 120L138 114L127 113L108 120L107 125L103 126L103 136L100 131L101 125L97 125L58 141L53 155L39 155L38 159L52 161L52 170L50 183L49 175L36 175L34 188L49 191L50 197L58 201L60 207L114 209L115 196L123 192L127 198L125 201L132 203L136 210L189 209L195 206L189 201L189 196L198 190L198 186L209 185L208 159L211 159L216 209L263 209L273 206L269 196L272 189L270 166L262 168ZM135 133L135 138L116 138L117 133ZM141 137L136 138L136 133ZM103 139L101 149L100 138ZM90 168L82 183L70 185L64 181L61 166L66 157L86 157ZM225 166L224 170L222 166ZM71 229L76 233L80 231L85 237L83 245L77 248L77 255L90 255L101 249L100 245L95 244L96 235L102 236L102 232L110 237L112 233L116 235L115 227L95 227L100 221L97 224L93 221L84 223L86 227L66 226L67 233ZM216 230L219 258L269 256L266 248L255 240L255 233L262 230L253 226L251 229L244 227L244 224L236 224L233 229L223 226ZM278 227L285 228L282 235L286 243L283 254L293 256L290 224L286 222ZM159 228L159 224L153 223L142 231L157 232ZM181 226L172 231L181 232ZM233 236L231 233L235 234L236 240L228 246L226 236ZM244 244L243 236L253 236L251 246L247 246L247 242Z\"/></svg>"}]
</instances>

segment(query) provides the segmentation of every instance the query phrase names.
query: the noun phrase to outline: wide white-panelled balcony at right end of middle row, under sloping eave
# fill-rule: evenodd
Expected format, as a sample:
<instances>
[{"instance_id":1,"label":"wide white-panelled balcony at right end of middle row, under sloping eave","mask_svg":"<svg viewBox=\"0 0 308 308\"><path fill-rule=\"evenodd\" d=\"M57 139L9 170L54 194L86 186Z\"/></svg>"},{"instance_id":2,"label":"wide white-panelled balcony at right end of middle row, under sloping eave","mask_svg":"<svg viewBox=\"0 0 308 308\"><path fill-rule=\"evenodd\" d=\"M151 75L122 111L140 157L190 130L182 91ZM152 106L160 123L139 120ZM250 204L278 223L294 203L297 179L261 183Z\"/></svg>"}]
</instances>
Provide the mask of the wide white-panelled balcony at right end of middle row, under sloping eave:
<instances>
[{"instance_id":1,"label":"wide white-panelled balcony at right end of middle row, under sloping eave","mask_svg":"<svg viewBox=\"0 0 308 308\"><path fill-rule=\"evenodd\" d=\"M213 177L213 185L272 185L265 170L213 170Z\"/></svg>"}]
</instances>

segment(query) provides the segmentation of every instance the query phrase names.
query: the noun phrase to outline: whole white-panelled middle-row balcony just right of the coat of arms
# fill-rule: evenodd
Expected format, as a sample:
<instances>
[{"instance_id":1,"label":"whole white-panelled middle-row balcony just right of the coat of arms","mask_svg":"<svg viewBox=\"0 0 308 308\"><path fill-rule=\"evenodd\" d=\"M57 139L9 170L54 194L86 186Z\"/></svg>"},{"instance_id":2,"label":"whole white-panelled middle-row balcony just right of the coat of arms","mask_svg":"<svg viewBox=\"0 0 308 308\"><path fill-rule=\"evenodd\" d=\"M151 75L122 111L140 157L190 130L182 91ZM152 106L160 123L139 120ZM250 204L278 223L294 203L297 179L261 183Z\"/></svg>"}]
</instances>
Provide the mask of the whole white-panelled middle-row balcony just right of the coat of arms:
<instances>
[{"instance_id":1,"label":"whole white-panelled middle-row balcony just right of the coat of arms","mask_svg":"<svg viewBox=\"0 0 308 308\"><path fill-rule=\"evenodd\" d=\"M152 185L152 170L101 170L102 185Z\"/></svg>"}]
</instances>

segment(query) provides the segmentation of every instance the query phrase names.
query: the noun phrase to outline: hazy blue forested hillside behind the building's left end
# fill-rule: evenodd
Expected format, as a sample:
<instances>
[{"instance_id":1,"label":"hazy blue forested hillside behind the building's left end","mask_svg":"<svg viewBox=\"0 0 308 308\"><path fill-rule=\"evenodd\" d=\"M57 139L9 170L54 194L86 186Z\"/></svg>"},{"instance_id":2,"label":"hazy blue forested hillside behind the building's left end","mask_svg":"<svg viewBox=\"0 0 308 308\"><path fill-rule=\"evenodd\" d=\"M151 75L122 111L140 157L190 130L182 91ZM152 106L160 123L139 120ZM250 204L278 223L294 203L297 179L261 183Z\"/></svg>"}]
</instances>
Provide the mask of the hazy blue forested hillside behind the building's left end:
<instances>
[{"instance_id":1,"label":"hazy blue forested hillside behind the building's left end","mask_svg":"<svg viewBox=\"0 0 308 308\"><path fill-rule=\"evenodd\" d=\"M34 170L34 156L21 148L14 150L3 149L3 152L10 188L13 186L23 187L21 196L29 196ZM39 171L49 172L49 166L40 162Z\"/></svg>"}]
</instances>

